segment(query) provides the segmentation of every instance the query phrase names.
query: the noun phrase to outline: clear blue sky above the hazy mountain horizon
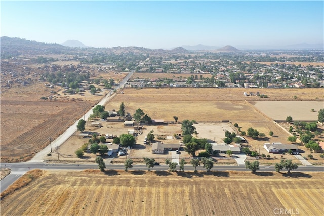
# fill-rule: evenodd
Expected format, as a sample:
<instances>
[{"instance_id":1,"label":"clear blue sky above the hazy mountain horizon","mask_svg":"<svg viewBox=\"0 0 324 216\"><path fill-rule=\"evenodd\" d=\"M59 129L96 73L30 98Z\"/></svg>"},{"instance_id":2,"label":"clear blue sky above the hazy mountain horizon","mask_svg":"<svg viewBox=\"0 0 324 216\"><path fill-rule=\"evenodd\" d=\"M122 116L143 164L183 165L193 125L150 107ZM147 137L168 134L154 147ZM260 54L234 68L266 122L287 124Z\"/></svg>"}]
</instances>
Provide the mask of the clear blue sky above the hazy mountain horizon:
<instances>
[{"instance_id":1,"label":"clear blue sky above the hazy mountain horizon","mask_svg":"<svg viewBox=\"0 0 324 216\"><path fill-rule=\"evenodd\" d=\"M92 47L285 46L324 40L323 1L1 1L1 36Z\"/></svg>"}]
</instances>

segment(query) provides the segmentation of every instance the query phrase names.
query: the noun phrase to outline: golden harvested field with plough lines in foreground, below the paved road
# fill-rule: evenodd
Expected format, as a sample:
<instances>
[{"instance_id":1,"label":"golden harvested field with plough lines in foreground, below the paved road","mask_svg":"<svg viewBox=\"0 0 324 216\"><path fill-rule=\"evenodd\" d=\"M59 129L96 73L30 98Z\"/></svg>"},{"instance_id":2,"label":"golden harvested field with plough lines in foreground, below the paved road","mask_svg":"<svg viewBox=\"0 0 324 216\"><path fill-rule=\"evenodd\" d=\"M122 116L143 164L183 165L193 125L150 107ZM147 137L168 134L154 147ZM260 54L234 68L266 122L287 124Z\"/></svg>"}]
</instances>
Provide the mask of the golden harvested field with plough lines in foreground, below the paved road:
<instances>
[{"instance_id":1,"label":"golden harvested field with plough lines in foreground, below the paved road","mask_svg":"<svg viewBox=\"0 0 324 216\"><path fill-rule=\"evenodd\" d=\"M324 214L320 173L36 171L2 194L3 215Z\"/></svg>"}]
</instances>

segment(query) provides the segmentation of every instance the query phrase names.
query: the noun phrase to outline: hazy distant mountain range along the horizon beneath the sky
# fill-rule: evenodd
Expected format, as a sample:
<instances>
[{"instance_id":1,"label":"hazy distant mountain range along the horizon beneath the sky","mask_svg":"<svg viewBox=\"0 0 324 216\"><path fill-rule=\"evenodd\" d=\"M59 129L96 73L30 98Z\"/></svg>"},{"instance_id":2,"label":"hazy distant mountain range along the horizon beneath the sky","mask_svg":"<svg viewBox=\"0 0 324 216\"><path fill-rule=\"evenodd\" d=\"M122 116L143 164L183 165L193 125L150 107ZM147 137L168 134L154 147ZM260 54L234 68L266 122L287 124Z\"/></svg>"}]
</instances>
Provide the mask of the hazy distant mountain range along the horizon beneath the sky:
<instances>
[{"instance_id":1,"label":"hazy distant mountain range along the horizon beneath the sky","mask_svg":"<svg viewBox=\"0 0 324 216\"><path fill-rule=\"evenodd\" d=\"M63 44L47 44L44 42L31 41L26 39L21 39L18 37L0 37L0 46L1 46L1 56L10 57L18 56L25 54L34 54L34 55L44 55L44 54L64 54L71 52L82 52L85 51L85 48L96 50L98 48L88 47L78 40L67 40ZM187 53L201 53L201 52L211 52L211 53L238 53L248 50L324 50L323 44L297 44L289 45L282 48L278 47L244 47L244 46L225 46L225 47L215 47L215 46L205 46L205 45L196 45L196 46L181 46L171 50L164 49L148 49L144 47L112 47L105 48L109 53L152 53L152 54L167 54L167 53L177 53L177 54L187 54Z\"/></svg>"}]
</instances>

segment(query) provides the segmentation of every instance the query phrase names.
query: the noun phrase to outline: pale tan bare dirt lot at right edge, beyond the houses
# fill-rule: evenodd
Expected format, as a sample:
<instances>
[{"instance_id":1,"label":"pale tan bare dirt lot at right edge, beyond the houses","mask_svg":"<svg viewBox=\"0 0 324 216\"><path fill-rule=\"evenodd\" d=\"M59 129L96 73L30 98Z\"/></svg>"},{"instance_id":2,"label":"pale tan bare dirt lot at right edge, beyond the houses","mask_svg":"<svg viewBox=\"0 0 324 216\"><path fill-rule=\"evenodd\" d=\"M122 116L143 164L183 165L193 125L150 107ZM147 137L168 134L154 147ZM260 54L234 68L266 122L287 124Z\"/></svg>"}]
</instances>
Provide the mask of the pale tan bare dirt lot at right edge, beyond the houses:
<instances>
[{"instance_id":1,"label":"pale tan bare dirt lot at right edge, beyond the houses","mask_svg":"<svg viewBox=\"0 0 324 216\"><path fill-rule=\"evenodd\" d=\"M291 116L294 121L317 121L318 111L324 108L323 101L251 101L250 103L270 118L281 121L285 121L287 116Z\"/></svg>"}]
</instances>

